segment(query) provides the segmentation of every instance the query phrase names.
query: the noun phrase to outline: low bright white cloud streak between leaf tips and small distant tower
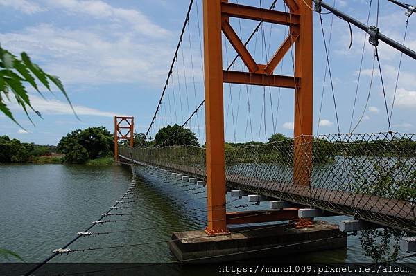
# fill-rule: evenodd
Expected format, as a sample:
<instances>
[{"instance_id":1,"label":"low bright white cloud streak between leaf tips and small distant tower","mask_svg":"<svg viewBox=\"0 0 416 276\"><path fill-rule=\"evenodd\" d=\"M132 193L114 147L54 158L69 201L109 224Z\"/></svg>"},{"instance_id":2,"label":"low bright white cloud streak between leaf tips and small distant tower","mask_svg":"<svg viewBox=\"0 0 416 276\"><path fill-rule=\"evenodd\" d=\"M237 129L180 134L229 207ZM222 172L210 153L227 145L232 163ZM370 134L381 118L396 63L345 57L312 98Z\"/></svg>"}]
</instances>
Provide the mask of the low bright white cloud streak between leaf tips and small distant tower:
<instances>
[{"instance_id":1,"label":"low bright white cloud streak between leaf tips and small distant tower","mask_svg":"<svg viewBox=\"0 0 416 276\"><path fill-rule=\"evenodd\" d=\"M31 104L33 109L40 111L43 114L62 114L62 115L73 115L73 111L67 102L60 100L44 100L43 98L31 95ZM21 110L21 107L16 103L12 102L10 108L13 110ZM112 111L101 111L98 109L92 109L82 105L74 105L76 114L82 118L82 116L101 116L101 117L114 117L114 116L126 116L124 114L115 113Z\"/></svg>"}]
</instances>

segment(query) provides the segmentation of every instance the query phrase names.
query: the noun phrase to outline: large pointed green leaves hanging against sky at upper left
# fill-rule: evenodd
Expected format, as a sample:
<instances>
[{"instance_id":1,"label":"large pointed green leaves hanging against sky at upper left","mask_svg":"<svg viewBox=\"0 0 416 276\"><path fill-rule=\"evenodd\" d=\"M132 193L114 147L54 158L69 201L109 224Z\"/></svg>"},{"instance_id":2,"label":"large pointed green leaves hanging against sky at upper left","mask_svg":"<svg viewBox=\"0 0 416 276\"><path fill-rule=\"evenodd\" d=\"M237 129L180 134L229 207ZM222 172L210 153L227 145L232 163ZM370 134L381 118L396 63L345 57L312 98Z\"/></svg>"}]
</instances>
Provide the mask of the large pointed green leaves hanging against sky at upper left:
<instances>
[{"instance_id":1,"label":"large pointed green leaves hanging against sky at upper left","mask_svg":"<svg viewBox=\"0 0 416 276\"><path fill-rule=\"evenodd\" d=\"M10 94L15 96L15 100L22 107L29 120L31 120L31 117L28 113L28 108L42 118L40 112L35 111L32 107L26 86L32 86L42 98L45 98L37 82L43 84L48 91L51 91L51 82L58 87L71 106L73 114L78 118L60 79L45 73L42 68L31 61L31 58L26 53L21 53L20 57L21 59L0 46L0 112L19 125L6 104L6 100L10 102Z\"/></svg>"}]
</instances>

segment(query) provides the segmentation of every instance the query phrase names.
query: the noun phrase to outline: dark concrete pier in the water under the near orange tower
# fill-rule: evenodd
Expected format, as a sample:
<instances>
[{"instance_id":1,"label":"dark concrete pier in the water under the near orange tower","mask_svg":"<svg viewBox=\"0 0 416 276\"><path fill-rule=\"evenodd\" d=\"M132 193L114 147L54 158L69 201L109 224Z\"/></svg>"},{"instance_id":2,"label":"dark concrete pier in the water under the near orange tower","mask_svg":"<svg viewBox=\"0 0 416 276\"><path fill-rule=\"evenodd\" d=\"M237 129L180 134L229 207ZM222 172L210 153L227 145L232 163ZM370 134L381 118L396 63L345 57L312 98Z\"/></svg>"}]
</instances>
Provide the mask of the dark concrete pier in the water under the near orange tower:
<instances>
[{"instance_id":1,"label":"dark concrete pier in the water under the near orange tower","mask_svg":"<svg viewBox=\"0 0 416 276\"><path fill-rule=\"evenodd\" d=\"M337 225L315 221L315 227L288 225L232 228L230 234L210 237L205 231L175 232L169 242L178 260L193 263L259 259L347 247ZM204 259L199 259L204 258Z\"/></svg>"}]
</instances>

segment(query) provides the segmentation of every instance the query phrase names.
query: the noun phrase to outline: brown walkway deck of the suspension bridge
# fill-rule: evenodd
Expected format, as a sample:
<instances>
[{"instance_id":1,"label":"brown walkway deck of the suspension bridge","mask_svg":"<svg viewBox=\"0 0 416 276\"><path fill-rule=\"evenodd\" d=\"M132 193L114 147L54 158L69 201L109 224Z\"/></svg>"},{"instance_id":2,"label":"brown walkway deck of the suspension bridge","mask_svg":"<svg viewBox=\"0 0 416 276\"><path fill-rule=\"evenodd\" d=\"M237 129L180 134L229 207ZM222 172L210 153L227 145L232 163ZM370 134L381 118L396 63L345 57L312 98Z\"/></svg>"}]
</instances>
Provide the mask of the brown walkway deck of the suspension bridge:
<instances>
[{"instance_id":1,"label":"brown walkway deck of the suspension bridge","mask_svg":"<svg viewBox=\"0 0 416 276\"><path fill-rule=\"evenodd\" d=\"M131 160L121 156L125 160ZM133 160L139 165L150 165ZM164 169L181 172L197 178L205 178L205 170L200 167L164 163L155 165ZM293 183L279 183L263 178L254 178L240 174L226 174L229 187L246 190L254 194L277 197L303 205L313 205L322 210L355 216L360 219L416 232L415 205L409 201L387 199L370 194L356 194L354 192L325 189L310 185L296 185ZM390 222L390 223L388 223Z\"/></svg>"}]
</instances>

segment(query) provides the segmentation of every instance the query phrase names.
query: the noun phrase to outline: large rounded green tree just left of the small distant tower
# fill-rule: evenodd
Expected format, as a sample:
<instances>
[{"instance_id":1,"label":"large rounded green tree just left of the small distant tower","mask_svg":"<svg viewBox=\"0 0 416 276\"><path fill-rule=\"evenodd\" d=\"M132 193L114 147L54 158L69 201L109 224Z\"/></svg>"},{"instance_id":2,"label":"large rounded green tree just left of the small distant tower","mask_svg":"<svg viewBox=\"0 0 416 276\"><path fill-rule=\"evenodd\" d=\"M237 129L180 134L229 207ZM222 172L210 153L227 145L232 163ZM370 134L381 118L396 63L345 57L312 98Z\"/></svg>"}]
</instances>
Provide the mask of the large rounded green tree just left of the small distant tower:
<instances>
[{"instance_id":1,"label":"large rounded green tree just left of the small distant tower","mask_svg":"<svg viewBox=\"0 0 416 276\"><path fill-rule=\"evenodd\" d=\"M76 129L62 137L58 142L58 151L65 155L69 163L85 163L89 159L112 155L114 137L105 127ZM79 154L79 156L74 155ZM85 153L87 158L85 159Z\"/></svg>"}]
</instances>

